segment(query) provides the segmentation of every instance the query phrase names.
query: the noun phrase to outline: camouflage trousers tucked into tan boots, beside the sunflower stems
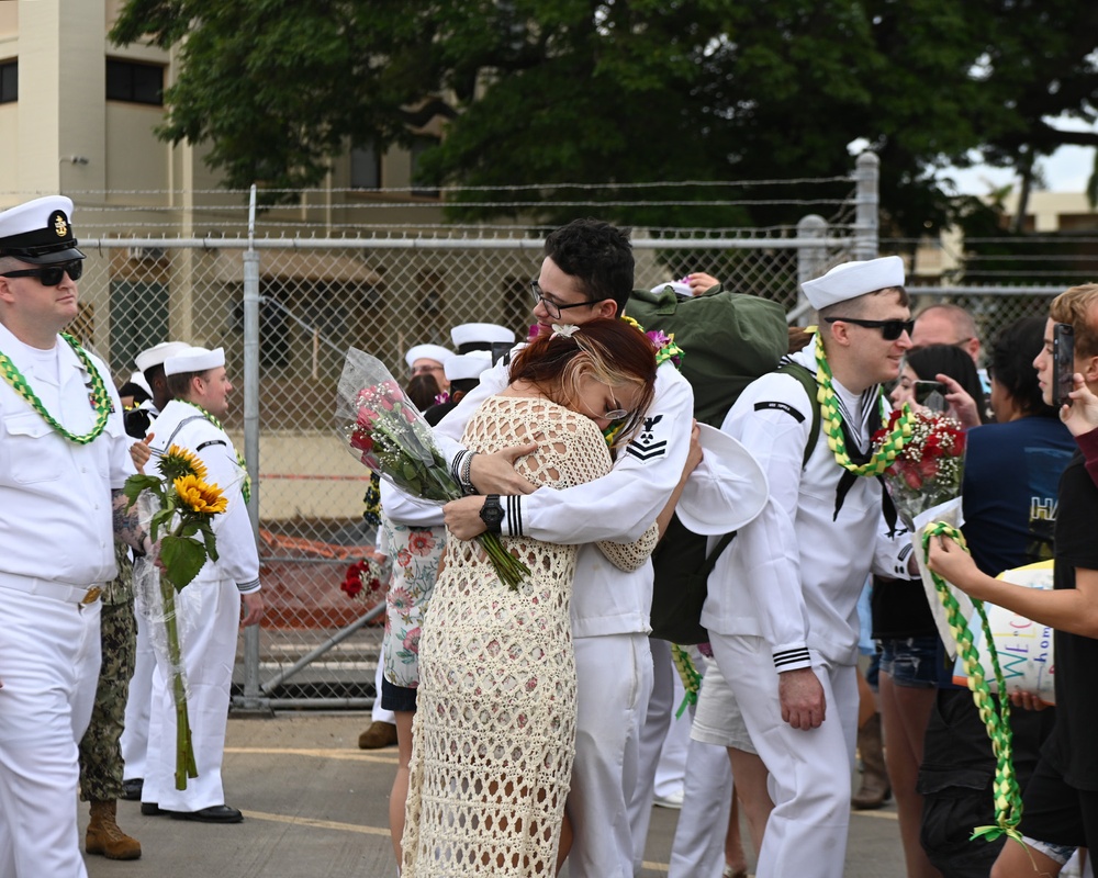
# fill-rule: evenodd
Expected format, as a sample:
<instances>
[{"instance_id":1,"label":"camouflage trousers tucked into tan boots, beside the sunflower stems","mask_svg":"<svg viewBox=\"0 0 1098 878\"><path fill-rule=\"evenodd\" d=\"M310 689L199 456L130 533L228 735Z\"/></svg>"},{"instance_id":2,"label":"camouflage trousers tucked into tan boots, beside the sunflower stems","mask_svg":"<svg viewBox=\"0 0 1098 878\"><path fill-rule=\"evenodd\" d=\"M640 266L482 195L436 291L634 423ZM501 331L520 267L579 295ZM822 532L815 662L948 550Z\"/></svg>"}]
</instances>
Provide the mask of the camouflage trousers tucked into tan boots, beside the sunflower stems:
<instances>
[{"instance_id":1,"label":"camouflage trousers tucked into tan boots, beside the sunflower stems","mask_svg":"<svg viewBox=\"0 0 1098 878\"><path fill-rule=\"evenodd\" d=\"M101 616L103 663L91 724L80 741L80 798L112 801L122 798L122 747L130 678L137 652L137 621L133 600L104 604Z\"/></svg>"}]
</instances>

